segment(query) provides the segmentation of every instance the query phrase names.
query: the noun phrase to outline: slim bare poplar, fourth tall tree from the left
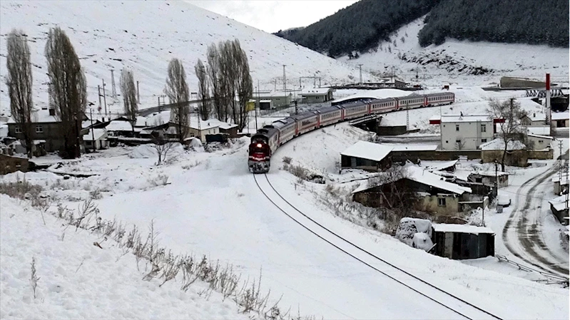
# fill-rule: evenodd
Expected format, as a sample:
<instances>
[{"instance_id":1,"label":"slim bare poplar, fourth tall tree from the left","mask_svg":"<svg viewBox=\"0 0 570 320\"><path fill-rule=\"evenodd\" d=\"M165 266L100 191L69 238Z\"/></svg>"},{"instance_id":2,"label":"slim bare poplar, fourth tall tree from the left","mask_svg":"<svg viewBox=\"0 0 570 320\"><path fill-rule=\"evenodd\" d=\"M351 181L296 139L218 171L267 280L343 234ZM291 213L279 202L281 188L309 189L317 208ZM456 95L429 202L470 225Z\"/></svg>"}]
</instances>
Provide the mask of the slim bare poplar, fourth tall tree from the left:
<instances>
[{"instance_id":1,"label":"slim bare poplar, fourth tall tree from the left","mask_svg":"<svg viewBox=\"0 0 570 320\"><path fill-rule=\"evenodd\" d=\"M176 124L178 140L183 143L184 138L188 135L190 108L188 107L189 94L186 73L178 58L173 58L168 63L168 78L166 78L164 93L171 100L171 103L175 104L171 109L171 118Z\"/></svg>"}]
</instances>

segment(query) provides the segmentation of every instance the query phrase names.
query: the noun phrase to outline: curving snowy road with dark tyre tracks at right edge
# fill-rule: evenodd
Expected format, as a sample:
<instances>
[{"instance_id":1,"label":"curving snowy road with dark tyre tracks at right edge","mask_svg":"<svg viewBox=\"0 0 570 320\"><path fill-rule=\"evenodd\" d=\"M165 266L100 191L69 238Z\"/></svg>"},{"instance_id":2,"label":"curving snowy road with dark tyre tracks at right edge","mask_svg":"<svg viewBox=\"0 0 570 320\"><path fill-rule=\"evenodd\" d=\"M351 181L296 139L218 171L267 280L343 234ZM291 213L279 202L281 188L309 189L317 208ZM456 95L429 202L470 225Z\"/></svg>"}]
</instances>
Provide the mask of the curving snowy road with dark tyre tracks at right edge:
<instances>
[{"instance_id":1,"label":"curving snowy road with dark tyre tracks at right edge","mask_svg":"<svg viewBox=\"0 0 570 320\"><path fill-rule=\"evenodd\" d=\"M550 167L519 187L502 237L507 249L524 262L544 272L567 277L568 254L561 254L557 248L546 245L542 224L544 217L551 215L550 208L544 205L544 196L551 189L551 177L556 172L556 166Z\"/></svg>"}]
</instances>

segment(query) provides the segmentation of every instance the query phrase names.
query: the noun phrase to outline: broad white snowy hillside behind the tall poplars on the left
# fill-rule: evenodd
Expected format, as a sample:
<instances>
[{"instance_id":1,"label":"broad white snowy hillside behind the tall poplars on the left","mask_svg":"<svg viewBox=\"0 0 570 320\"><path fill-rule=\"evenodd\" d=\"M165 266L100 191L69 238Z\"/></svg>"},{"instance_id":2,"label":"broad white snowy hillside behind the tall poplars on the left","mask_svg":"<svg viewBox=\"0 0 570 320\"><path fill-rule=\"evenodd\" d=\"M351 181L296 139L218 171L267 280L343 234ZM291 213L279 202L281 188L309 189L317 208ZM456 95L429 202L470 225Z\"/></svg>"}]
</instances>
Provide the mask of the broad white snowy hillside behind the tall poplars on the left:
<instances>
[{"instance_id":1,"label":"broad white snowy hillside behind the tall poplars on the left","mask_svg":"<svg viewBox=\"0 0 570 320\"><path fill-rule=\"evenodd\" d=\"M198 58L206 60L211 43L233 38L248 53L251 76L255 86L260 81L262 89L273 89L274 80L277 88L283 88L283 65L288 88L299 86L300 76L321 77L322 84L352 82L359 76L357 67L185 1L1 1L0 76L6 72L4 39L11 29L23 29L29 36L34 103L39 106L48 102L44 46L53 26L60 26L71 38L86 71L88 101L95 108L102 80L111 96L111 69L115 70L116 91L121 93L118 79L123 67L132 68L140 81L141 108L156 105L171 58L183 61L190 91L197 91L194 65ZM312 79L309 82L312 86ZM4 81L0 90L0 103L6 110L9 99ZM121 110L118 100L108 98L107 104Z\"/></svg>"}]
</instances>

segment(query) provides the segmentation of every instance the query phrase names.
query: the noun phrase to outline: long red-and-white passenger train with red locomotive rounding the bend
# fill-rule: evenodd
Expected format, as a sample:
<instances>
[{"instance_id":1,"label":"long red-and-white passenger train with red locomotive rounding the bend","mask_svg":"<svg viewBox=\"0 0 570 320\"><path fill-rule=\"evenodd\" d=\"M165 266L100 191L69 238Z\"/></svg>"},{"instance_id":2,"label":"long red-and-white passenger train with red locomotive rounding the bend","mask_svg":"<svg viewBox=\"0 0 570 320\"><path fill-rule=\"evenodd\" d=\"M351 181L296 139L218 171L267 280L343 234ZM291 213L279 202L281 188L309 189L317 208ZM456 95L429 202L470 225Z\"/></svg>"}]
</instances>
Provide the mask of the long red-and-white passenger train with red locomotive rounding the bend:
<instances>
[{"instance_id":1,"label":"long red-and-white passenger train with red locomotive rounding the bend","mask_svg":"<svg viewBox=\"0 0 570 320\"><path fill-rule=\"evenodd\" d=\"M273 121L260 128L250 140L248 167L252 173L267 173L271 155L281 145L312 130L360 118L365 115L388 113L406 108L423 108L449 105L455 102L454 93L428 93L399 98L358 100L332 105L319 110L307 111Z\"/></svg>"}]
</instances>

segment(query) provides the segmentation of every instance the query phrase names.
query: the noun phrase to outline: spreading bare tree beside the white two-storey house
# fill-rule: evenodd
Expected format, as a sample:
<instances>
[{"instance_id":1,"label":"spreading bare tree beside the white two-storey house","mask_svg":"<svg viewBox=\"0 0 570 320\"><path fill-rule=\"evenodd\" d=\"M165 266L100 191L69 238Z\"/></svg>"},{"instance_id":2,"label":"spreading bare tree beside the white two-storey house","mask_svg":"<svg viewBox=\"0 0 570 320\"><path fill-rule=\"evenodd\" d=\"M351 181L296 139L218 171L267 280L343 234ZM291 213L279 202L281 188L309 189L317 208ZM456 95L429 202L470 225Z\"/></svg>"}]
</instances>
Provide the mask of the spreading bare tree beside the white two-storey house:
<instances>
[{"instance_id":1,"label":"spreading bare tree beside the white two-storey house","mask_svg":"<svg viewBox=\"0 0 570 320\"><path fill-rule=\"evenodd\" d=\"M502 119L502 122L499 122L499 136L504 143L501 158L501 170L504 172L504 162L509 152L509 143L512 145L516 141L524 141L520 119L526 115L526 112L522 110L521 103L516 101L515 98L510 98L503 102L490 100L487 112L495 119Z\"/></svg>"}]
</instances>

